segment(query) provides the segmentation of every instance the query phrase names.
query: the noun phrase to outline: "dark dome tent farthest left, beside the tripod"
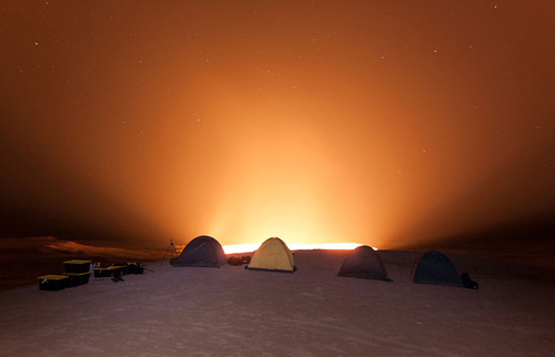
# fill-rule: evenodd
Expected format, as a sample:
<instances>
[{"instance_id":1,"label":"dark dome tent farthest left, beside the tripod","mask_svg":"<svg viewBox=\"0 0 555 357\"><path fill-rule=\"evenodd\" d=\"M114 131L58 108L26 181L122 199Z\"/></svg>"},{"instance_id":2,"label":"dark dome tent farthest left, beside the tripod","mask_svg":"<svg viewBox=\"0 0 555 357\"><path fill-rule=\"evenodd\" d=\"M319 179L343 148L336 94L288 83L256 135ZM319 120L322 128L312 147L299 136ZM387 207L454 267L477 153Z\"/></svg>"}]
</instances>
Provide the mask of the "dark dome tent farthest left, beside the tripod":
<instances>
[{"instance_id":1,"label":"dark dome tent farthest left, beside the tripod","mask_svg":"<svg viewBox=\"0 0 555 357\"><path fill-rule=\"evenodd\" d=\"M185 246L174 266L215 266L220 267L228 262L220 243L201 235Z\"/></svg>"}]
</instances>

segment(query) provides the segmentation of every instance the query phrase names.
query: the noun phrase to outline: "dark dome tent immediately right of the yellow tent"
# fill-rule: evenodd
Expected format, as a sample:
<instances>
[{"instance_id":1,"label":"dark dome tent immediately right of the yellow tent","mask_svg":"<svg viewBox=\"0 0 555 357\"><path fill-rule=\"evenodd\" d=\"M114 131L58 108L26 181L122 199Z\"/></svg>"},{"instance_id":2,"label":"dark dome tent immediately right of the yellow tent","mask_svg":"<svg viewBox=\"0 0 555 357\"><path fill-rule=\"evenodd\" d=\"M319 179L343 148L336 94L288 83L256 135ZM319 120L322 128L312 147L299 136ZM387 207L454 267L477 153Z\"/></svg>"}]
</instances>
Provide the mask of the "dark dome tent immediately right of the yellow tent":
<instances>
[{"instance_id":1,"label":"dark dome tent immediately right of the yellow tent","mask_svg":"<svg viewBox=\"0 0 555 357\"><path fill-rule=\"evenodd\" d=\"M337 276L389 282L387 271L377 253L367 245L355 248L343 262ZM391 282L391 280L390 280Z\"/></svg>"}]
</instances>

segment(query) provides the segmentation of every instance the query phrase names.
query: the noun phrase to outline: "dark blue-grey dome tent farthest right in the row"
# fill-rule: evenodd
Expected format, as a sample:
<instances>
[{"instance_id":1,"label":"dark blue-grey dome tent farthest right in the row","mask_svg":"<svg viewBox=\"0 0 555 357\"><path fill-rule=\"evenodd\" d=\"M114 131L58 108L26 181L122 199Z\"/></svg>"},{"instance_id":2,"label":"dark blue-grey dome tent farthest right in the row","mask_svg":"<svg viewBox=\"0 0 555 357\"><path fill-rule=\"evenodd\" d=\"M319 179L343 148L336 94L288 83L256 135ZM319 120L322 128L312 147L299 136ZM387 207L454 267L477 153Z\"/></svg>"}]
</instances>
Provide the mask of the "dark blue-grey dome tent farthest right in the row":
<instances>
[{"instance_id":1,"label":"dark blue-grey dome tent farthest right in the row","mask_svg":"<svg viewBox=\"0 0 555 357\"><path fill-rule=\"evenodd\" d=\"M463 280L445 254L430 251L414 264L413 283L463 287Z\"/></svg>"}]
</instances>

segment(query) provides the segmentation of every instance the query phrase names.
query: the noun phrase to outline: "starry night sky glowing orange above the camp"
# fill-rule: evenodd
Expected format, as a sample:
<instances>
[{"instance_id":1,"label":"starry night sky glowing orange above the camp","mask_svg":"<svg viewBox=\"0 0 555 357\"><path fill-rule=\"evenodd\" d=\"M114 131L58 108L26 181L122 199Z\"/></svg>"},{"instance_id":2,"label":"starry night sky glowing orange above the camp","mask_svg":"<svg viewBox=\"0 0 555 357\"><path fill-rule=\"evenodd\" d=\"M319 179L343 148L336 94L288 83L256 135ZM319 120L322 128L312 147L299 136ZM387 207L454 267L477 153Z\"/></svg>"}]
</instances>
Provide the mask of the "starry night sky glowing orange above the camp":
<instances>
[{"instance_id":1,"label":"starry night sky glowing orange above the camp","mask_svg":"<svg viewBox=\"0 0 555 357\"><path fill-rule=\"evenodd\" d=\"M555 213L554 1L0 1L0 235L377 247Z\"/></svg>"}]
</instances>

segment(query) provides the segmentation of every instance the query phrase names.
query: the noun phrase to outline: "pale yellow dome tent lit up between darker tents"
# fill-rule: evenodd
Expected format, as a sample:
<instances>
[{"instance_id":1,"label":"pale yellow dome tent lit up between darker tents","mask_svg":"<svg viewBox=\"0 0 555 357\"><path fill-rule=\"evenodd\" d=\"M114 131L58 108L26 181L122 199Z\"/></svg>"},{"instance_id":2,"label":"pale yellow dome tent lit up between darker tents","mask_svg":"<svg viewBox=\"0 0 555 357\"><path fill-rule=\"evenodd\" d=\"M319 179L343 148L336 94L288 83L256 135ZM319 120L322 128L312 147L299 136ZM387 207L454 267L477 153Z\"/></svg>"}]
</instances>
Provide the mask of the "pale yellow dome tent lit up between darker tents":
<instances>
[{"instance_id":1,"label":"pale yellow dome tent lit up between darker tents","mask_svg":"<svg viewBox=\"0 0 555 357\"><path fill-rule=\"evenodd\" d=\"M295 263L287 245L280 238L269 238L254 252L249 269L293 273Z\"/></svg>"}]
</instances>

